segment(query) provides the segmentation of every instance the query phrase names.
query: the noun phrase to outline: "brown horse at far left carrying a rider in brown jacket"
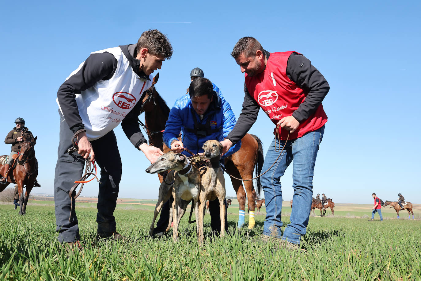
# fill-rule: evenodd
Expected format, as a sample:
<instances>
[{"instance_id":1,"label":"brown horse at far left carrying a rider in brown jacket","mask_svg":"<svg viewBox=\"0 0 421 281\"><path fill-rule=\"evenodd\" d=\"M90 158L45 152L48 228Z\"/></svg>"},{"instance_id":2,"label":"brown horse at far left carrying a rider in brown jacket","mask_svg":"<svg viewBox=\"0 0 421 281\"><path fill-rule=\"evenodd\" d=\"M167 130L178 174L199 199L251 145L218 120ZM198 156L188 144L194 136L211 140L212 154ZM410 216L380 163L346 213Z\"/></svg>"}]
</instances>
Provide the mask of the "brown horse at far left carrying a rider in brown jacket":
<instances>
[{"instance_id":1,"label":"brown horse at far left carrying a rider in brown jacket","mask_svg":"<svg viewBox=\"0 0 421 281\"><path fill-rule=\"evenodd\" d=\"M18 185L19 193L19 214L26 214L26 206L29 199L29 193L31 193L32 187L34 187L35 179L38 175L38 161L35 158L35 149L34 146L37 141L37 136L35 138L26 138L24 136L23 142L21 144L21 149L19 154L16 157L17 165L13 171L11 171L7 177L7 182L5 184L0 183L0 192L5 190L5 188L13 183ZM6 157L8 155L0 156L0 158ZM12 169L13 164L10 166ZM0 174L3 176L5 174L5 166L0 164ZM25 196L23 193L23 188L26 186Z\"/></svg>"}]
</instances>

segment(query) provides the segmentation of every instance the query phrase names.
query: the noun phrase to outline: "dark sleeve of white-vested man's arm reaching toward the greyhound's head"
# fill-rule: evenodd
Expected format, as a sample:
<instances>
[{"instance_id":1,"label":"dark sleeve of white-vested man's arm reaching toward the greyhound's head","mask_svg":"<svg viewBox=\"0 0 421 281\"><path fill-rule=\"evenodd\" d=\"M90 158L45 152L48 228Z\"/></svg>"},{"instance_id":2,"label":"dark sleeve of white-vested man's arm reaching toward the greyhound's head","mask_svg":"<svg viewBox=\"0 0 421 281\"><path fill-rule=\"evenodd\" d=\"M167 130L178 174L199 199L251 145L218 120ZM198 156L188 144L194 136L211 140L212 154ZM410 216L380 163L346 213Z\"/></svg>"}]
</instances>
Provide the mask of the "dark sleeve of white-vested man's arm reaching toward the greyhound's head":
<instances>
[{"instance_id":1,"label":"dark sleeve of white-vested man's arm reaching toward the greyhound's head","mask_svg":"<svg viewBox=\"0 0 421 281\"><path fill-rule=\"evenodd\" d=\"M123 128L123 131L126 134L127 138L137 149L139 149L139 146L141 144L148 143L140 130L138 122L138 118L141 113L141 104L142 102L139 101L133 107L133 109L123 118L123 121L121 121L121 128Z\"/></svg>"}]
</instances>

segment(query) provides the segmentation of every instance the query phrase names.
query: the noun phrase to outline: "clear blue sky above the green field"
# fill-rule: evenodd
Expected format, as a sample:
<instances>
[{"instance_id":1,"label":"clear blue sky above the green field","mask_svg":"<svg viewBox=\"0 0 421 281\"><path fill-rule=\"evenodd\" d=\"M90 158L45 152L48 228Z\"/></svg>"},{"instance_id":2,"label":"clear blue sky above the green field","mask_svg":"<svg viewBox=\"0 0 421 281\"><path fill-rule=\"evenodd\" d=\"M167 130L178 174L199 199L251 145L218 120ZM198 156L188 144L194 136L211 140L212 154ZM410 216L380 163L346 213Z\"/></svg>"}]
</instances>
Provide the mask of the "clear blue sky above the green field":
<instances>
[{"instance_id":1,"label":"clear blue sky above the green field","mask_svg":"<svg viewBox=\"0 0 421 281\"><path fill-rule=\"evenodd\" d=\"M137 2L136 2L137 3ZM92 51L133 44L144 30L159 29L171 41L173 57L159 71L157 90L171 107L200 67L238 118L244 75L230 52L238 39L253 36L270 52L297 51L330 84L323 101L328 115L314 171L314 194L336 203L383 200L421 203L418 1L8 1L2 4L0 69L4 136L22 117L38 136L37 193L53 193L59 136L56 93L64 79ZM141 120L144 117L141 116ZM273 123L260 111L250 130L264 150ZM157 198L156 175L115 129L123 159L120 197ZM0 154L10 145L0 144ZM417 176L418 175L418 176ZM235 196L226 177L226 194ZM292 198L292 166L281 179L284 200ZM85 185L82 195L97 195Z\"/></svg>"}]
</instances>

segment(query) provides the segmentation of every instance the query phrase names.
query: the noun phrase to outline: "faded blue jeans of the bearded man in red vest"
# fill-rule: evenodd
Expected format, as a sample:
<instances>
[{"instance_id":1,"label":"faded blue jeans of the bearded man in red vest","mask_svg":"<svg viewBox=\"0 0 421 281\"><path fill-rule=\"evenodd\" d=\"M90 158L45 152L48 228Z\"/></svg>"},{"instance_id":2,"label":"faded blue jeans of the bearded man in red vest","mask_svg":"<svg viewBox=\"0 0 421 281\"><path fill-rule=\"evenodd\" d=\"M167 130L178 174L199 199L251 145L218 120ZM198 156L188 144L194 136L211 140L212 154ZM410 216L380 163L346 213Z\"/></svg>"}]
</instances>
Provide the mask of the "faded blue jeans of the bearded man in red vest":
<instances>
[{"instance_id":1,"label":"faded blue jeans of the bearded man in red vest","mask_svg":"<svg viewBox=\"0 0 421 281\"><path fill-rule=\"evenodd\" d=\"M275 145L284 146L285 140L280 143L272 141L262 171L270 170L261 177L266 204L266 220L263 234L282 238L294 244L300 244L300 238L306 234L309 223L310 209L313 196L313 174L317 151L323 138L325 126L316 131L309 132L298 139L288 140L282 155L272 166L280 151L275 151ZM282 189L280 178L284 175L289 164L293 163L293 205L291 210L291 223L286 226L284 234L281 233L282 221Z\"/></svg>"}]
</instances>

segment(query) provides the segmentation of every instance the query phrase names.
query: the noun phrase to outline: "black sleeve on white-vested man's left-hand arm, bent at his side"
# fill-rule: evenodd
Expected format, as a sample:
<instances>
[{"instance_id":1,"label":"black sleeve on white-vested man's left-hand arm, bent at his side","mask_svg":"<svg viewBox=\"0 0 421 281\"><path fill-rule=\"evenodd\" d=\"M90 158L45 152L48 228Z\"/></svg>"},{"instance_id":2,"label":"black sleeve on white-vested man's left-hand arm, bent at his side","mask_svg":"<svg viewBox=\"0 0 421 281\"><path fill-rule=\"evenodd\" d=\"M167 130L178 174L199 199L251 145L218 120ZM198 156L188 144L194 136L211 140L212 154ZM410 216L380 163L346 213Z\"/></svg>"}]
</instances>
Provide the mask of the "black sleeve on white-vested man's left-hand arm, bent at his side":
<instances>
[{"instance_id":1,"label":"black sleeve on white-vested man's left-hand arm, bent at his side","mask_svg":"<svg viewBox=\"0 0 421 281\"><path fill-rule=\"evenodd\" d=\"M117 59L110 53L91 54L82 67L61 84L57 92L61 111L69 128L75 133L85 128L75 100L81 91L92 87L99 80L109 80L117 69Z\"/></svg>"}]
</instances>

